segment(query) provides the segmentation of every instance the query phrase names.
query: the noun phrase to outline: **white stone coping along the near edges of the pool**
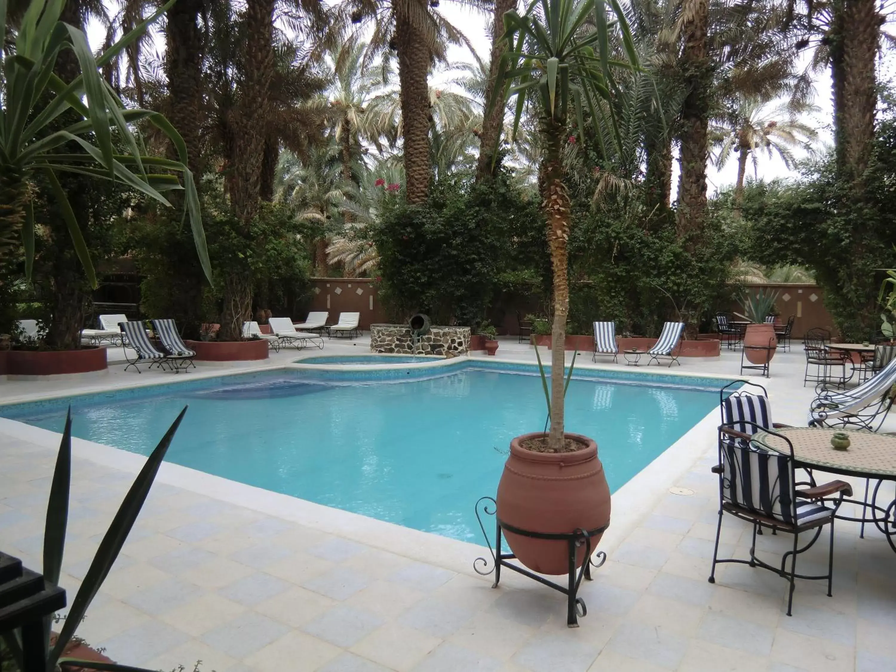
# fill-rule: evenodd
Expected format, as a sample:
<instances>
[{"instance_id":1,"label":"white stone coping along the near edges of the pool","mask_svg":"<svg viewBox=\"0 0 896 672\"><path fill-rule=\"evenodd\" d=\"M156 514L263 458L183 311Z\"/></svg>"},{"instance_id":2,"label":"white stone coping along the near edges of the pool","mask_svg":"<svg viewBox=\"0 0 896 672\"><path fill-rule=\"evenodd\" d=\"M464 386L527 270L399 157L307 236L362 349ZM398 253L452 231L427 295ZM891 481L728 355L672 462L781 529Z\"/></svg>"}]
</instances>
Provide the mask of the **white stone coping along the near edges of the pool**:
<instances>
[{"instance_id":1,"label":"white stone coping along the near edges of the pool","mask_svg":"<svg viewBox=\"0 0 896 672\"><path fill-rule=\"evenodd\" d=\"M730 380L727 376L712 377ZM770 390L775 387L772 380L765 380L764 383ZM694 463L715 449L718 412L717 408L713 408L674 444L659 453L653 461L616 490L611 500L613 507L611 524L604 534L599 550L607 554L615 550L653 510L659 499L668 494L669 488L691 470ZM62 436L57 432L10 418L0 418L0 433L29 441L54 453L58 450ZM145 462L142 455L75 437L72 439L72 452L77 459L92 461L134 475L141 470ZM314 530L336 534L419 562L437 564L472 576L477 575L472 569L473 560L487 554L487 549L478 544L442 537L434 532L406 528L360 513L315 504L299 497L248 486L168 461L162 463L157 482L181 487L228 504L297 522ZM475 504L471 502L470 506Z\"/></svg>"}]
</instances>

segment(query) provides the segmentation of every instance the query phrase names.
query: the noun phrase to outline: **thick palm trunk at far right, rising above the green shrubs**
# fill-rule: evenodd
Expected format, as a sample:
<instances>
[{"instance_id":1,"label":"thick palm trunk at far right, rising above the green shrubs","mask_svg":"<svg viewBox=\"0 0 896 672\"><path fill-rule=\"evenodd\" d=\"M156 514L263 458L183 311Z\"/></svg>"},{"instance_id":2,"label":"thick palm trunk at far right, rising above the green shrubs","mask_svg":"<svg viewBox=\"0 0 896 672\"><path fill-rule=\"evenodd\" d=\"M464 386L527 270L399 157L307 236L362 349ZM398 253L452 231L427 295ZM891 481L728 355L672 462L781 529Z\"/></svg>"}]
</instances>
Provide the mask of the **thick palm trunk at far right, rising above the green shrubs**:
<instances>
[{"instance_id":1,"label":"thick palm trunk at far right, rising above the green shrubs","mask_svg":"<svg viewBox=\"0 0 896 672\"><path fill-rule=\"evenodd\" d=\"M883 17L875 0L833 4L831 79L837 166L859 179L868 166L874 141L874 59Z\"/></svg>"}]
</instances>

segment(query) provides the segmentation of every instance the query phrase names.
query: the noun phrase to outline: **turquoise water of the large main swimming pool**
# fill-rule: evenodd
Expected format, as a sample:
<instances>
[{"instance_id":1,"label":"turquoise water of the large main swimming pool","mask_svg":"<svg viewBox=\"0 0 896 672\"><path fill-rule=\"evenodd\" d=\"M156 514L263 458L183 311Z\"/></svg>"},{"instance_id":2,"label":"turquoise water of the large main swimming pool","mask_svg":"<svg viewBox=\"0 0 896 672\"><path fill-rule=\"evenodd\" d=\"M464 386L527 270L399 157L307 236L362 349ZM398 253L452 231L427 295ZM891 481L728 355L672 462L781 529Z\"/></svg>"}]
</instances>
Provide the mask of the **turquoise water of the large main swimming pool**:
<instances>
[{"instance_id":1,"label":"turquoise water of the large main swimming pool","mask_svg":"<svg viewBox=\"0 0 896 672\"><path fill-rule=\"evenodd\" d=\"M0 406L0 416L60 432L71 403L75 436L145 455L189 404L169 461L417 530L478 538L473 506L495 495L511 438L545 425L538 376L470 366L401 382L343 373L342 381L288 369L221 376ZM620 380L573 378L566 395L567 430L597 440L612 491L719 399L708 386L632 384L614 375Z\"/></svg>"}]
</instances>

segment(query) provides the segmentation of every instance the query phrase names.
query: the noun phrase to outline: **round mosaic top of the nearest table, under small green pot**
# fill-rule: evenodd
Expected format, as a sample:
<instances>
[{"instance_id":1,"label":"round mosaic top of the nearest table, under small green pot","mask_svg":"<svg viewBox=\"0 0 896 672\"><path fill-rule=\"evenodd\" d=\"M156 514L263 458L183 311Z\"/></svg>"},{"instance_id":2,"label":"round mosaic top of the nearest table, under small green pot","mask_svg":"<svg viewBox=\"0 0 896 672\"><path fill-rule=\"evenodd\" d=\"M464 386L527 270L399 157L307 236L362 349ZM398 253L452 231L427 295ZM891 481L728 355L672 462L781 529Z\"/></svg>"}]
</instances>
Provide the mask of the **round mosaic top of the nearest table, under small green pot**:
<instances>
[{"instance_id":1,"label":"round mosaic top of the nearest table, under small green pot","mask_svg":"<svg viewBox=\"0 0 896 672\"><path fill-rule=\"evenodd\" d=\"M834 450L831 435L842 429L784 427L774 430L793 444L794 458L800 464L837 474L876 476L896 479L896 436L874 432L847 431L849 448ZM779 437L759 430L753 440L776 452L787 454L788 445Z\"/></svg>"}]
</instances>

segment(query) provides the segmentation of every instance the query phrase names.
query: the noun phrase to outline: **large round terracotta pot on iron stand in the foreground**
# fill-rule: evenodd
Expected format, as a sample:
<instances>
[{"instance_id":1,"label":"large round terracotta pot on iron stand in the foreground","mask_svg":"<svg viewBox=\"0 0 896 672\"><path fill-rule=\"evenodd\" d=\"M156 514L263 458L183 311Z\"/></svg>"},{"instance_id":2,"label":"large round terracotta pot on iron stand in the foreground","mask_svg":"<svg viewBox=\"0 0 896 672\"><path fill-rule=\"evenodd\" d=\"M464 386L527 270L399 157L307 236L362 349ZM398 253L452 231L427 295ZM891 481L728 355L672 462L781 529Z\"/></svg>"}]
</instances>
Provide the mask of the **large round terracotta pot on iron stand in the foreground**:
<instances>
[{"instance_id":1,"label":"large round terracotta pot on iron stand in the foreground","mask_svg":"<svg viewBox=\"0 0 896 672\"><path fill-rule=\"evenodd\" d=\"M610 521L610 490L598 459L598 444L587 436L567 434L582 444L576 452L532 452L521 442L536 434L517 436L498 484L497 516L520 530L565 534L597 530ZM591 552L603 533L591 538ZM504 538L517 559L533 572L565 574L569 550L564 540L523 537L504 530ZM585 549L576 566L582 566Z\"/></svg>"}]
</instances>

